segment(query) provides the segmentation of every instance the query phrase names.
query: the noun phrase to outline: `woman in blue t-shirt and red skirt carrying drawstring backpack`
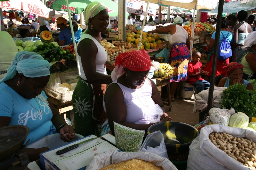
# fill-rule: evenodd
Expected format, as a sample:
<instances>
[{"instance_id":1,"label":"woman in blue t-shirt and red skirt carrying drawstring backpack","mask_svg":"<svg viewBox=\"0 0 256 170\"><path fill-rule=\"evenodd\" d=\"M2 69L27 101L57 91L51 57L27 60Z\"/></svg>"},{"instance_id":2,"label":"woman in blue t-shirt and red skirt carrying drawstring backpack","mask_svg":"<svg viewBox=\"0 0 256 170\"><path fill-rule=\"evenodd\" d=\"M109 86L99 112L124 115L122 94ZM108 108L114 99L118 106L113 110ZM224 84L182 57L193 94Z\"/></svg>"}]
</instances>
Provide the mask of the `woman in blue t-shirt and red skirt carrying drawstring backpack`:
<instances>
[{"instance_id":1,"label":"woman in blue t-shirt and red skirt carrying drawstring backpack","mask_svg":"<svg viewBox=\"0 0 256 170\"><path fill-rule=\"evenodd\" d=\"M225 20L224 17L222 17L219 46L224 37L226 37L226 39L228 40L229 43L233 41L232 33L226 31L227 27L228 27L228 22ZM208 75L205 75L204 79L208 82L210 82L210 76L211 76L211 71L212 71L213 46L214 46L214 42L215 42L215 35L216 35L216 31L212 34L210 42L206 41L207 47L209 49L212 49L212 51L210 52L210 54L207 58L207 63L204 68L204 71L208 72ZM229 58L226 60L217 59L216 73L215 73L214 77L216 77L218 75L227 76L226 67L227 67L228 63L229 63Z\"/></svg>"}]
</instances>

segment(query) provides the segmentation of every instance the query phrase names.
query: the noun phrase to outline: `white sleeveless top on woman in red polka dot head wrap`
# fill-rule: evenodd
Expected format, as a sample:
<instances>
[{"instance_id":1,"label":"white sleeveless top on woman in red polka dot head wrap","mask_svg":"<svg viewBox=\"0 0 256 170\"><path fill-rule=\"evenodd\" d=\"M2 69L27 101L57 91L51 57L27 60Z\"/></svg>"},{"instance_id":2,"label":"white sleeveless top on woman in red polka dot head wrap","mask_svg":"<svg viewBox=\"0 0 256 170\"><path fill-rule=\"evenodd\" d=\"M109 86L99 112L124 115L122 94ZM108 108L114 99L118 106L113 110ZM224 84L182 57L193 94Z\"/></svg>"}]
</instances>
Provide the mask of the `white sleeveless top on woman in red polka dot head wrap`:
<instances>
[{"instance_id":1,"label":"white sleeveless top on woman in red polka dot head wrap","mask_svg":"<svg viewBox=\"0 0 256 170\"><path fill-rule=\"evenodd\" d=\"M112 83L116 83L123 91L124 102L127 107L126 122L136 123L136 124L149 124L148 117L154 115L150 112L149 108L154 106L154 101L152 96L152 87L150 80L146 78L144 84L139 89L131 89L123 86L117 82L118 78ZM111 84L112 84L111 83ZM107 88L108 89L108 88ZM105 102L103 100L104 110L106 112ZM121 114L121 113L120 113ZM107 123L108 120L104 124Z\"/></svg>"}]
</instances>

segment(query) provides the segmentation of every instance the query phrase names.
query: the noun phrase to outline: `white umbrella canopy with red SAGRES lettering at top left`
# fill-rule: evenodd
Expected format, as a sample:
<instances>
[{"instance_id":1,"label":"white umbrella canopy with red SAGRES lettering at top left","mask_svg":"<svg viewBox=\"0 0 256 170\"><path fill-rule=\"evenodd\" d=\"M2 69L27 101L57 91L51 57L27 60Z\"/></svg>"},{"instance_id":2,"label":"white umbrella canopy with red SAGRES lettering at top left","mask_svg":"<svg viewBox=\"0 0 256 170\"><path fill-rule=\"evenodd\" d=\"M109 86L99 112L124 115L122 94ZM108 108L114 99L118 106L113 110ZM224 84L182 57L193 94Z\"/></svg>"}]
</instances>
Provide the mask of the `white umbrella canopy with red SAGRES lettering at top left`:
<instances>
[{"instance_id":1,"label":"white umbrella canopy with red SAGRES lettering at top left","mask_svg":"<svg viewBox=\"0 0 256 170\"><path fill-rule=\"evenodd\" d=\"M24 10L31 14L41 16L44 18L49 18L50 9L47 8L44 3L40 0L9 0L1 1L0 8Z\"/></svg>"}]
</instances>

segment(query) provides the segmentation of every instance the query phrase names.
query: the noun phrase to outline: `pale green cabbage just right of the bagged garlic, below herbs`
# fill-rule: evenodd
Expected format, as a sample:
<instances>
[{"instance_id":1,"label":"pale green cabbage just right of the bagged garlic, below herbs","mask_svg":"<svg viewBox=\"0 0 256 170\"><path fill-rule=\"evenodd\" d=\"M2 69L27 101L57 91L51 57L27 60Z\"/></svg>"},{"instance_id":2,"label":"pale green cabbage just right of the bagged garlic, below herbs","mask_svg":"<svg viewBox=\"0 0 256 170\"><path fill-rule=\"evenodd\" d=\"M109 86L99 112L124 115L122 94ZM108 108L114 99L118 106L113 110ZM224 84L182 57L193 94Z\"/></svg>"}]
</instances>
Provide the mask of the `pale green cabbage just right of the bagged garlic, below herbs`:
<instances>
[{"instance_id":1,"label":"pale green cabbage just right of the bagged garlic, below herbs","mask_svg":"<svg viewBox=\"0 0 256 170\"><path fill-rule=\"evenodd\" d=\"M249 117L242 112L238 112L237 114L233 114L230 116L228 126L233 128L246 128L249 123Z\"/></svg>"}]
</instances>

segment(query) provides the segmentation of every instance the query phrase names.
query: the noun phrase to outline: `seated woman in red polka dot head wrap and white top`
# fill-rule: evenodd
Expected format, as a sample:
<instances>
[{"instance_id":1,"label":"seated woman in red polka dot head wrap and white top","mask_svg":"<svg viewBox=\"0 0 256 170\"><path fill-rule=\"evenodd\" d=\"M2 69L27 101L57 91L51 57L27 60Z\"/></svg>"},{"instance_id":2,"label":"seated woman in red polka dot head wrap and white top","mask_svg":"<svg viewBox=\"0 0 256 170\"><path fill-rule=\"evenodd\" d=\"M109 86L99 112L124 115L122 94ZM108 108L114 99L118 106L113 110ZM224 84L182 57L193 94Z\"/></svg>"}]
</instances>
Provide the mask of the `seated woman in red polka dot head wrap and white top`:
<instances>
[{"instance_id":1,"label":"seated woman in red polka dot head wrap and white top","mask_svg":"<svg viewBox=\"0 0 256 170\"><path fill-rule=\"evenodd\" d=\"M148 121L148 117L155 114L150 112L154 104L158 104L163 110L161 122L172 120L166 114L155 83L147 78L151 61L144 49L119 54L115 59L115 65L116 70L112 71L112 79L116 79L108 86L103 99L113 135L113 122L146 131L154 124Z\"/></svg>"}]
</instances>

